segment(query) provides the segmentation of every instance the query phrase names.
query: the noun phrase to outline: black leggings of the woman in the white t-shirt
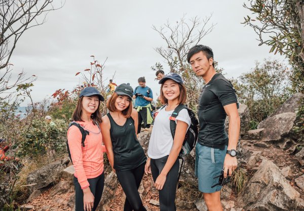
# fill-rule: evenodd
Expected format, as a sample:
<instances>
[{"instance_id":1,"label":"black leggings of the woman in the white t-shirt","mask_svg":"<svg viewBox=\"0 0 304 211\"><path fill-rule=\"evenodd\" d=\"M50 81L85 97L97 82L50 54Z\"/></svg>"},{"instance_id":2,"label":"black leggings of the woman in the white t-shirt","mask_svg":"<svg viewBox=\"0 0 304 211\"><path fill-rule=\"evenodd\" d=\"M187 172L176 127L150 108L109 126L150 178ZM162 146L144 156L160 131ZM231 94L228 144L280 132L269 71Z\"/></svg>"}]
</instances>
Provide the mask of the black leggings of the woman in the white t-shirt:
<instances>
[{"instance_id":1,"label":"black leggings of the woman in the white t-shirt","mask_svg":"<svg viewBox=\"0 0 304 211\"><path fill-rule=\"evenodd\" d=\"M162 172L169 155L160 159L151 159L151 172L154 182ZM179 170L179 161L176 159L174 165L167 174L166 182L162 190L159 191L161 211L175 211L175 195Z\"/></svg>"}]
</instances>

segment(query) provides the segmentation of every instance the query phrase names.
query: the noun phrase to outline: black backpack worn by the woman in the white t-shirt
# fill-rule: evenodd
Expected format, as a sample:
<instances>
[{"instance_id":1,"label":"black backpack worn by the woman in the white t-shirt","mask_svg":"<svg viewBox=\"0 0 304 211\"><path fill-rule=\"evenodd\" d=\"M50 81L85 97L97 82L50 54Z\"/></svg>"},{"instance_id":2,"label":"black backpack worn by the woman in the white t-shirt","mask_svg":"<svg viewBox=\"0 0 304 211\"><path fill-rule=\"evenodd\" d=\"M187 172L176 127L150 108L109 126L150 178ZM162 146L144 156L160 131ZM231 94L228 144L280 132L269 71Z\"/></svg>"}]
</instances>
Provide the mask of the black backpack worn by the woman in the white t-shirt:
<instances>
[{"instance_id":1,"label":"black backpack worn by the woman in the white t-shirt","mask_svg":"<svg viewBox=\"0 0 304 211\"><path fill-rule=\"evenodd\" d=\"M163 108L165 108L166 105L163 105L163 107L161 107L159 109L159 111L162 110ZM199 121L196 118L194 112L191 109L189 109L185 104L179 104L175 108L175 110L172 112L172 115L170 117L170 130L171 130L173 140L174 140L174 135L175 135L175 130L176 130L175 119L178 116L178 113L180 112L180 110L182 110L182 109L186 109L188 111L189 117L191 119L191 125L189 126L189 128L186 132L184 141L182 143L181 150L178 155L178 159L182 160L179 174L178 174L178 180L179 180L179 177L181 174L181 168L184 164L185 155L189 154L192 151L192 149L195 147L196 142L198 140L198 135L199 135L199 130L198 130ZM179 187L180 187L180 185L179 185Z\"/></svg>"}]
</instances>

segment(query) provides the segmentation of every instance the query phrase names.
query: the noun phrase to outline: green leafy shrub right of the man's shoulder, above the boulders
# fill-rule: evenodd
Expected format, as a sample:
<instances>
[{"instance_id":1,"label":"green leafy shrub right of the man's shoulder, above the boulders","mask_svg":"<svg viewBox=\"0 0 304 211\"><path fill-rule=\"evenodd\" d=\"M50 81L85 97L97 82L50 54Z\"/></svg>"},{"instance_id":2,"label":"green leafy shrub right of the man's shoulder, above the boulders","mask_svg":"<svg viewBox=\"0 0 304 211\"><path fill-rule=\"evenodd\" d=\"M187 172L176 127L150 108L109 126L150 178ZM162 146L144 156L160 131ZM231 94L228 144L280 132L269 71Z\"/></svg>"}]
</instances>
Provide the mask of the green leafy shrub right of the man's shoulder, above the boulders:
<instances>
[{"instance_id":1,"label":"green leafy shrub right of the man's shoulder, above the boulders","mask_svg":"<svg viewBox=\"0 0 304 211\"><path fill-rule=\"evenodd\" d=\"M250 128L267 118L290 96L289 70L279 61L256 62L248 73L232 79L238 100L247 105Z\"/></svg>"}]
</instances>

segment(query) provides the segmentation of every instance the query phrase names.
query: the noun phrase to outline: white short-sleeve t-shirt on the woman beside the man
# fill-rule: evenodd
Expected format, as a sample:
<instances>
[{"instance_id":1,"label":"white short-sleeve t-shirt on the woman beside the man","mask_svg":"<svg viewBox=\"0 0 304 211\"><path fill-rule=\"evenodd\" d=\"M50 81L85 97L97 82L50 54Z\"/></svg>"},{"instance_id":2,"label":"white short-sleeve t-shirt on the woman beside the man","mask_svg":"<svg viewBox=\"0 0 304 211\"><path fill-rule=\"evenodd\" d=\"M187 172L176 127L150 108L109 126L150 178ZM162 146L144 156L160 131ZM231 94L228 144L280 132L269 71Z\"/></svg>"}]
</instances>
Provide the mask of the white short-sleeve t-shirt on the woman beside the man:
<instances>
[{"instance_id":1,"label":"white short-sleeve t-shirt on the woman beside the man","mask_svg":"<svg viewBox=\"0 0 304 211\"><path fill-rule=\"evenodd\" d=\"M174 110L166 111L166 108L167 105L159 111L154 121L148 147L148 156L151 157L151 159L159 159L169 155L173 145L169 118ZM187 129L191 125L191 119L186 109L180 110L175 121L177 122L177 120L187 123Z\"/></svg>"}]
</instances>

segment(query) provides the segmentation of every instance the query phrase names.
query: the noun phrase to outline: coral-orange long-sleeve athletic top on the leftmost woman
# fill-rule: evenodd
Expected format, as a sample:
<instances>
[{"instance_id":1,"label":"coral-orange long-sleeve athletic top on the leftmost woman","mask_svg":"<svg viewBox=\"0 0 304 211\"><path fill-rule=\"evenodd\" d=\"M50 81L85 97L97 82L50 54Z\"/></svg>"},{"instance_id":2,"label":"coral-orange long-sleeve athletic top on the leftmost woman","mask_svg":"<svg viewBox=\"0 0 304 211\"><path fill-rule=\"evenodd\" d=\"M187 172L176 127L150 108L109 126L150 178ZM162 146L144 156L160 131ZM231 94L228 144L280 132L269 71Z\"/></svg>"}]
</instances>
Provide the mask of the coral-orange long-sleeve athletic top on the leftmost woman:
<instances>
[{"instance_id":1,"label":"coral-orange long-sleeve athletic top on the leftmost woman","mask_svg":"<svg viewBox=\"0 0 304 211\"><path fill-rule=\"evenodd\" d=\"M86 136L85 146L81 145L82 134L78 127L71 126L67 131L67 141L71 153L71 159L75 169L74 176L77 177L82 189L90 186L88 179L96 178L103 172L102 135L97 125L91 122L77 121L85 129L89 130ZM91 132L92 131L92 132Z\"/></svg>"}]
</instances>

